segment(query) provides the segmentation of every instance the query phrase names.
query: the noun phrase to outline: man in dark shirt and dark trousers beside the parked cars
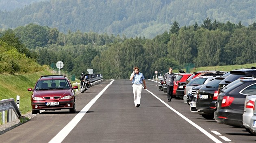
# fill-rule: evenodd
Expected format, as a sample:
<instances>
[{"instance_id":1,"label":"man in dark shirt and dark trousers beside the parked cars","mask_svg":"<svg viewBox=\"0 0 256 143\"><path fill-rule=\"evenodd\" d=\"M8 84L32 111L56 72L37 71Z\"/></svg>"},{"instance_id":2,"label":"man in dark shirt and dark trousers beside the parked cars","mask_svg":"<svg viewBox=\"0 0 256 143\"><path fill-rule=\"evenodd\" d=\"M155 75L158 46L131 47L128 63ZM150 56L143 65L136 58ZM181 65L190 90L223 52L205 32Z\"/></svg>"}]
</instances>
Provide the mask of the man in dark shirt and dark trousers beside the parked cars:
<instances>
[{"instance_id":1,"label":"man in dark shirt and dark trousers beside the parked cars","mask_svg":"<svg viewBox=\"0 0 256 143\"><path fill-rule=\"evenodd\" d=\"M176 82L176 76L172 73L172 68L169 67L169 72L164 75L166 87L167 87L167 98L168 102L172 99L172 93L174 92L174 81Z\"/></svg>"}]
</instances>

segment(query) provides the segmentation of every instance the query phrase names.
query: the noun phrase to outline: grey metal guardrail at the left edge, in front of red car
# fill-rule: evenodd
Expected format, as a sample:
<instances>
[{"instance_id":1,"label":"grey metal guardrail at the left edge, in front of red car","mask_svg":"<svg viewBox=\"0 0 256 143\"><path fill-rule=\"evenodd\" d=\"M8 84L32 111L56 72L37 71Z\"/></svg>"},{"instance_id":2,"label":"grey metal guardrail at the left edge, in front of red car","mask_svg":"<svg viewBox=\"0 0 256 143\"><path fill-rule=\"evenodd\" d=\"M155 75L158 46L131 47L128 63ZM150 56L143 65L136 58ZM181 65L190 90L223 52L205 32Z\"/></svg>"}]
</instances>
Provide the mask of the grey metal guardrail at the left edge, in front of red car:
<instances>
[{"instance_id":1,"label":"grey metal guardrail at the left edge, in front of red car","mask_svg":"<svg viewBox=\"0 0 256 143\"><path fill-rule=\"evenodd\" d=\"M10 109L13 109L17 118L20 118L22 116L20 109L18 108L18 106L15 103L13 98L0 100L0 112L4 113L4 111L6 111L6 110L8 110L8 112L9 112ZM4 114L2 114L2 121L4 124ZM11 120L7 119L7 122L11 122Z\"/></svg>"}]
</instances>

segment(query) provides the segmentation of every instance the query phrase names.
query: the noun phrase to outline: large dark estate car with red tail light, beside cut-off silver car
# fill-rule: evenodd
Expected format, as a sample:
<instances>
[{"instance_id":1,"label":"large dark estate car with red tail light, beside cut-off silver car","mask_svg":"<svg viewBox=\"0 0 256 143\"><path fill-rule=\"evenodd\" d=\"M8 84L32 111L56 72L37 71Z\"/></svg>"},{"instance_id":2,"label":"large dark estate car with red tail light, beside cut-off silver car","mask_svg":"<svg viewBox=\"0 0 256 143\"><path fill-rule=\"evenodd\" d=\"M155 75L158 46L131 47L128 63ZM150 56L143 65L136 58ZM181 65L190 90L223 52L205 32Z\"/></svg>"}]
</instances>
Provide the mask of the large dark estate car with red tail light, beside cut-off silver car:
<instances>
[{"instance_id":1,"label":"large dark estate car with red tail light, beside cut-off silver car","mask_svg":"<svg viewBox=\"0 0 256 143\"><path fill-rule=\"evenodd\" d=\"M230 126L243 127L243 113L247 95L255 95L256 78L240 78L225 86L217 98L215 120Z\"/></svg>"}]
</instances>

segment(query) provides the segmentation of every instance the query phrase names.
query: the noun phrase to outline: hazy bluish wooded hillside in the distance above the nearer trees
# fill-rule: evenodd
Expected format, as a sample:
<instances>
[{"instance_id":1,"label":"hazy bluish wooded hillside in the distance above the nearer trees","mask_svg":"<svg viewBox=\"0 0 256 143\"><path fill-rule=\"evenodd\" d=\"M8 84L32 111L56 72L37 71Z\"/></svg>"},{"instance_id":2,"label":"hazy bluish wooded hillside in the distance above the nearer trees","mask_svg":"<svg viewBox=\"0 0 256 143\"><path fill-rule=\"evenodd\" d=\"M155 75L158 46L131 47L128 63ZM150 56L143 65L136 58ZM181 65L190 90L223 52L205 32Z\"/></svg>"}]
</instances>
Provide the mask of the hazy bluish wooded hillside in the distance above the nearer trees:
<instances>
[{"instance_id":1,"label":"hazy bluish wooded hillside in the distance above the nearer trees","mask_svg":"<svg viewBox=\"0 0 256 143\"><path fill-rule=\"evenodd\" d=\"M56 27L63 33L79 30L154 38L169 31L174 21L180 27L195 22L202 25L207 17L223 23L241 21L245 26L256 21L254 0L0 0L0 3L1 29L35 23ZM24 7L13 9L19 4ZM4 9L7 11L2 7L8 7Z\"/></svg>"}]
</instances>

